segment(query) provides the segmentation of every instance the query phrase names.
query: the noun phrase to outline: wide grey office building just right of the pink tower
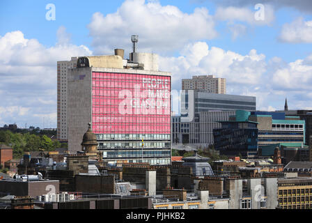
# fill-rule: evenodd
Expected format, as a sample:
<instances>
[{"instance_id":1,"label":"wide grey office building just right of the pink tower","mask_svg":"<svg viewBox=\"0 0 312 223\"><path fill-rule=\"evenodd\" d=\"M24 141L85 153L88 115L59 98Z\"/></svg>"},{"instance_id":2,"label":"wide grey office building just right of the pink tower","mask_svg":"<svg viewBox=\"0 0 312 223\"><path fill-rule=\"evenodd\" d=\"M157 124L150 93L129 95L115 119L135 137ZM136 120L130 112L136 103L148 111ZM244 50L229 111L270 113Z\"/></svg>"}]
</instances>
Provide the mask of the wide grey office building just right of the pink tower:
<instances>
[{"instance_id":1,"label":"wide grey office building just right of the pink tower","mask_svg":"<svg viewBox=\"0 0 312 223\"><path fill-rule=\"evenodd\" d=\"M256 111L256 97L182 91L180 116L171 117L171 143L213 144L212 130L236 110Z\"/></svg>"}]
</instances>

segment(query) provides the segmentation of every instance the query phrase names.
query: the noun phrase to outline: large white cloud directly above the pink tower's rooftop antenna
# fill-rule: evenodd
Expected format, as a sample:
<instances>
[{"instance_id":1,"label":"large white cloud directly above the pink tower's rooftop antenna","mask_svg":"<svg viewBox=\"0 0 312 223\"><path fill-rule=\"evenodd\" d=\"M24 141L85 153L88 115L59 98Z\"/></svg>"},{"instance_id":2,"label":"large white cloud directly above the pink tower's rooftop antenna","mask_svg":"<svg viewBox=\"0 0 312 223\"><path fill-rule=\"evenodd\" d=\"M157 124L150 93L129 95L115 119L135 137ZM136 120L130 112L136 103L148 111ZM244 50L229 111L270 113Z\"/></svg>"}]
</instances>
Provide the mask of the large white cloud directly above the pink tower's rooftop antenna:
<instances>
[{"instance_id":1,"label":"large white cloud directly above the pink tower's rooftop antenna","mask_svg":"<svg viewBox=\"0 0 312 223\"><path fill-rule=\"evenodd\" d=\"M139 35L141 52L171 52L190 41L217 36L207 8L196 8L188 14L176 6L143 0L126 0L116 13L94 13L88 29L95 54L111 54L114 47L130 50L132 34Z\"/></svg>"}]
</instances>

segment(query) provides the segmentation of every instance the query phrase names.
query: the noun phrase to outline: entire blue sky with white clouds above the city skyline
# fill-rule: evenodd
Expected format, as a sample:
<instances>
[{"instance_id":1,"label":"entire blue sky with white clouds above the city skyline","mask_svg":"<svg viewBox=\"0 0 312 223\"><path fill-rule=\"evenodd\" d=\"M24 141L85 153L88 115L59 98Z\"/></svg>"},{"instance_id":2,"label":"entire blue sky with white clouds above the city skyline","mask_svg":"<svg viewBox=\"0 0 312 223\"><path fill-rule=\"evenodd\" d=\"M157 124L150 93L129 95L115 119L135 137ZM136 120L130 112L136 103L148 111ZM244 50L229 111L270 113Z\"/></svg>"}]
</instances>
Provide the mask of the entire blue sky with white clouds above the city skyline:
<instances>
[{"instance_id":1,"label":"entire blue sky with white clouds above the city skyline","mask_svg":"<svg viewBox=\"0 0 312 223\"><path fill-rule=\"evenodd\" d=\"M0 1L0 126L56 128L56 61L159 54L172 89L226 78L258 110L312 109L311 0Z\"/></svg>"}]
</instances>

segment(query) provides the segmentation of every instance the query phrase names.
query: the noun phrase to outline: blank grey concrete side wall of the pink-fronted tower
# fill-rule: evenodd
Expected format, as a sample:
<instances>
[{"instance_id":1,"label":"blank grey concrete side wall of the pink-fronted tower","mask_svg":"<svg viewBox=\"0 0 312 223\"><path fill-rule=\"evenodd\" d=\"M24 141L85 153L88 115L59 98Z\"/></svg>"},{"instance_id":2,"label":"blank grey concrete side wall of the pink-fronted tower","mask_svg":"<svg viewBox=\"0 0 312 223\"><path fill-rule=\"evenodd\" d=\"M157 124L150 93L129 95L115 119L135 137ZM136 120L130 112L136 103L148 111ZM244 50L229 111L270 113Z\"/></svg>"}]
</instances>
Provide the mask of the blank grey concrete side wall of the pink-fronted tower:
<instances>
[{"instance_id":1,"label":"blank grey concrete side wall of the pink-fronted tower","mask_svg":"<svg viewBox=\"0 0 312 223\"><path fill-rule=\"evenodd\" d=\"M68 69L68 151L81 151L92 114L91 68Z\"/></svg>"}]
</instances>

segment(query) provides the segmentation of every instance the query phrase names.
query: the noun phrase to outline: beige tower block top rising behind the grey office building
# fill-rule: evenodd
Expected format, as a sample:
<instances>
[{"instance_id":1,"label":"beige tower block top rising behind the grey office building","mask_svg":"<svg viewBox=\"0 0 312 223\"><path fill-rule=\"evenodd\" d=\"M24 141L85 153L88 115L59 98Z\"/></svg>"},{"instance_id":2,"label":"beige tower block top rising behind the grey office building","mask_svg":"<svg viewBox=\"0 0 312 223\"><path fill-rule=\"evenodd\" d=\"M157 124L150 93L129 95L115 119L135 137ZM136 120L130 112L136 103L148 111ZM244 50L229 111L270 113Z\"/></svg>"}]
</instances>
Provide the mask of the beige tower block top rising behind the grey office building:
<instances>
[{"instance_id":1,"label":"beige tower block top rising behind the grey office building","mask_svg":"<svg viewBox=\"0 0 312 223\"><path fill-rule=\"evenodd\" d=\"M226 79L215 78L213 75L193 76L182 79L182 90L199 90L209 93L226 93Z\"/></svg>"}]
</instances>

